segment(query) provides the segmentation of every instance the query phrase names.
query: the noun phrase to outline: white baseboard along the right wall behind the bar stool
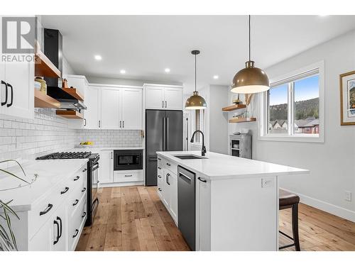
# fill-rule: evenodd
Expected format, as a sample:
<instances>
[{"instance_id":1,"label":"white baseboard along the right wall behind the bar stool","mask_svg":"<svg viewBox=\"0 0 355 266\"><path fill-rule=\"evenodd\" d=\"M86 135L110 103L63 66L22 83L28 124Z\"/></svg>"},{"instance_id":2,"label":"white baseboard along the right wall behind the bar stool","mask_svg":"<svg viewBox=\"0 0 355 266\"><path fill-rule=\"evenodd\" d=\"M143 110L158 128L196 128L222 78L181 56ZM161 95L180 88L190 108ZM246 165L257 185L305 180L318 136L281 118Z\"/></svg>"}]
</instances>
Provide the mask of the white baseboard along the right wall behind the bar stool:
<instances>
[{"instance_id":1,"label":"white baseboard along the right wall behind the bar stool","mask_svg":"<svg viewBox=\"0 0 355 266\"><path fill-rule=\"evenodd\" d=\"M282 188L283 189L283 188ZM297 192L290 191L290 189L283 189L285 191L297 194L300 196L300 201L303 204L312 206L314 208L326 211L329 214L334 214L346 220L352 221L355 223L355 211L344 209L342 207L336 206L334 204L329 204L328 202L321 201L320 199L315 199L310 196L306 196Z\"/></svg>"}]
</instances>

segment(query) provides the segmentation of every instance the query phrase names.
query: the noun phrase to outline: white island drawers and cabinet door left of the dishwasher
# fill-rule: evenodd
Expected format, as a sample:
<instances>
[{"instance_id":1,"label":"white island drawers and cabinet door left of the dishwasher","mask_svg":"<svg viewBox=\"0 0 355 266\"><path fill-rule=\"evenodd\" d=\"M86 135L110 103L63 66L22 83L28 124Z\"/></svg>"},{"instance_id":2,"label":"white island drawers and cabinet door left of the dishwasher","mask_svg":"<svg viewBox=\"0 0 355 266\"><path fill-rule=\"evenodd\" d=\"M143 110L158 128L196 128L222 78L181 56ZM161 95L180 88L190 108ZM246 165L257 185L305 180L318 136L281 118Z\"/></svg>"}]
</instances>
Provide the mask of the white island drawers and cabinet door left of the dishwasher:
<instances>
[{"instance_id":1,"label":"white island drawers and cabinet door left of the dishwasher","mask_svg":"<svg viewBox=\"0 0 355 266\"><path fill-rule=\"evenodd\" d=\"M177 173L178 165L173 164L173 162L167 164L165 160L158 160L158 196L176 224L178 224Z\"/></svg>"}]
</instances>

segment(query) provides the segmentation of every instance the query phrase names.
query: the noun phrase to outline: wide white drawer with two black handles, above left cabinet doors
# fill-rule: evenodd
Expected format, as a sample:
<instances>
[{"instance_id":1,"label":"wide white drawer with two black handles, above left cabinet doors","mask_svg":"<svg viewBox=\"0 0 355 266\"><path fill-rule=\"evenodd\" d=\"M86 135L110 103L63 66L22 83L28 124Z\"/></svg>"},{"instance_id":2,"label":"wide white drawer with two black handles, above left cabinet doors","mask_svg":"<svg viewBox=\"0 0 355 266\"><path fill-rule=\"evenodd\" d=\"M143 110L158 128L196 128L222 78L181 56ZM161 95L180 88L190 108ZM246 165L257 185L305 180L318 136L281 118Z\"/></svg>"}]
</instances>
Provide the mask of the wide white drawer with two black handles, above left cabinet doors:
<instances>
[{"instance_id":1,"label":"wide white drawer with two black handles, above left cabinet doors","mask_svg":"<svg viewBox=\"0 0 355 266\"><path fill-rule=\"evenodd\" d=\"M47 196L28 212L28 237L32 238L33 235L39 230L41 226L47 221L63 201L67 200L70 194L70 182L68 180L58 184L53 193Z\"/></svg>"}]
</instances>

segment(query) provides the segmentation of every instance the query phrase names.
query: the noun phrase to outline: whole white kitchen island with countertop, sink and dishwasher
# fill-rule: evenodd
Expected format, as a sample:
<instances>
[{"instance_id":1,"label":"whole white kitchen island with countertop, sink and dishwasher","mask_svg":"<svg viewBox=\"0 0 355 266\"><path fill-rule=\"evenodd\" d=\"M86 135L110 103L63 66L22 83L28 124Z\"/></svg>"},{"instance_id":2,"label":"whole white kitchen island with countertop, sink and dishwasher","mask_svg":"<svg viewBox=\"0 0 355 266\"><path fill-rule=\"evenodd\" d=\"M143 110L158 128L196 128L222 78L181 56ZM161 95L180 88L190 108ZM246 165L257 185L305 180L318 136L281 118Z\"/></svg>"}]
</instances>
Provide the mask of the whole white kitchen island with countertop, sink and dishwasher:
<instances>
[{"instance_id":1,"label":"whole white kitchen island with countertop, sink and dishwasher","mask_svg":"<svg viewBox=\"0 0 355 266\"><path fill-rule=\"evenodd\" d=\"M158 195L192 250L278 250L278 177L308 170L219 153L157 154Z\"/></svg>"}]
</instances>

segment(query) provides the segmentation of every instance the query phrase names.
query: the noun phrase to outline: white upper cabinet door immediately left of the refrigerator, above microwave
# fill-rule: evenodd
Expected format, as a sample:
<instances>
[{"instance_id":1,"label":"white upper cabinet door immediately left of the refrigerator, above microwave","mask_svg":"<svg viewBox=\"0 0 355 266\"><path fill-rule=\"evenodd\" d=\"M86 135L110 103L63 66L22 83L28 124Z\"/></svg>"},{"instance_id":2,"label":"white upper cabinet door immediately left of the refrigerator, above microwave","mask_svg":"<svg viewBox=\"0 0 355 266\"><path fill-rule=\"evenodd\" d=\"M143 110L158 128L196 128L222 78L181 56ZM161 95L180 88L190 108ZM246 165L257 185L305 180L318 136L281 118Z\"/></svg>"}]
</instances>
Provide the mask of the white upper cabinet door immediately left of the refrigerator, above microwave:
<instances>
[{"instance_id":1,"label":"white upper cabinet door immediately left of the refrigerator, above microwave","mask_svg":"<svg viewBox=\"0 0 355 266\"><path fill-rule=\"evenodd\" d=\"M121 129L141 129L143 116L142 89L124 88L122 91Z\"/></svg>"}]
</instances>

